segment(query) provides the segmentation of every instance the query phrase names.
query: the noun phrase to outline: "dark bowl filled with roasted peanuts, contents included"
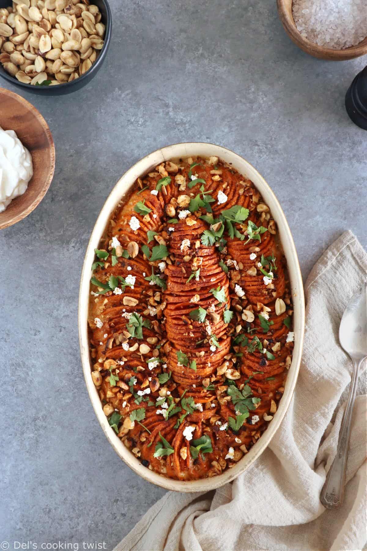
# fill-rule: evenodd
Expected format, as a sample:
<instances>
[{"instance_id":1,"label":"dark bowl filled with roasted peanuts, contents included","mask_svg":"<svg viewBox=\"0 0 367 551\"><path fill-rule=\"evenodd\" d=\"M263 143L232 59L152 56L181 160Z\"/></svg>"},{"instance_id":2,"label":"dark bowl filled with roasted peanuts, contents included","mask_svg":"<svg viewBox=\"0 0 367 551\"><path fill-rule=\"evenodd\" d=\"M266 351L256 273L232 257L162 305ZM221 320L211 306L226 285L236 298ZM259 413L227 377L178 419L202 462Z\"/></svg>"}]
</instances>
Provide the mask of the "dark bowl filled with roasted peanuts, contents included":
<instances>
[{"instance_id":1,"label":"dark bowl filled with roasted peanuts, contents included","mask_svg":"<svg viewBox=\"0 0 367 551\"><path fill-rule=\"evenodd\" d=\"M0 76L35 94L78 90L101 68L111 27L107 0L0 0Z\"/></svg>"}]
</instances>

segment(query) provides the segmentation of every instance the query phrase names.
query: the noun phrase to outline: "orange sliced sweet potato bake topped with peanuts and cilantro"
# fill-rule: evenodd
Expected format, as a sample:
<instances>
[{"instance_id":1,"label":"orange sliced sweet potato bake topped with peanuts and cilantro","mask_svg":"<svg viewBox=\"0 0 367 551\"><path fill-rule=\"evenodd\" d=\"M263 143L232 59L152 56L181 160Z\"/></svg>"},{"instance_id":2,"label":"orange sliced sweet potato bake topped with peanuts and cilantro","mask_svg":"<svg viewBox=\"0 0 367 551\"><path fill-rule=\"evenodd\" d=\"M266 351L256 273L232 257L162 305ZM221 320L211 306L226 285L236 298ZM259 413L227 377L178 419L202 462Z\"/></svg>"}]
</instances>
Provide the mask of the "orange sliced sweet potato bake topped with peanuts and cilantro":
<instances>
[{"instance_id":1,"label":"orange sliced sweet potato bake topped with peanuts and cilantro","mask_svg":"<svg viewBox=\"0 0 367 551\"><path fill-rule=\"evenodd\" d=\"M119 438L169 478L231 468L271 422L293 349L269 207L217 157L138 178L92 266L92 379Z\"/></svg>"}]
</instances>

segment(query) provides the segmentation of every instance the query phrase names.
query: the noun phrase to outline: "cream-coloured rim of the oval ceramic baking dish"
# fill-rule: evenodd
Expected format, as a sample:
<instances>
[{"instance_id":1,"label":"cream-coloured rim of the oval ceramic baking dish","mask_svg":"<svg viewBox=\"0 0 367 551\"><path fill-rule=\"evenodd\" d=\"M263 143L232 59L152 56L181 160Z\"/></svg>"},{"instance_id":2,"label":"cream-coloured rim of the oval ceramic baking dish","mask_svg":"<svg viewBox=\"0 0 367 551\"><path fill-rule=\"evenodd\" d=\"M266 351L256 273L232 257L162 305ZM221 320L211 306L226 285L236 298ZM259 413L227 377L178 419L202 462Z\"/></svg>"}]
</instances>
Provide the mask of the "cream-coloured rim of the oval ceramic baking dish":
<instances>
[{"instance_id":1,"label":"cream-coloured rim of the oval ceramic baking dish","mask_svg":"<svg viewBox=\"0 0 367 551\"><path fill-rule=\"evenodd\" d=\"M235 466L223 474L212 478L205 478L192 481L180 481L165 478L162 475L150 471L141 464L130 450L124 446L123 442L118 438L114 430L109 426L108 419L103 413L102 404L98 392L92 381L91 377L91 359L89 354L89 337L87 327L88 307L89 307L89 294L90 294L90 278L91 278L91 266L94 261L94 250L98 247L100 238L105 231L108 220L111 217L112 212L117 207L117 204L121 198L128 192L130 187L134 184L139 176L145 175L150 172L155 166L160 163L174 158L182 158L188 156L202 156L209 158L215 155L226 163L232 164L233 168L240 174L247 176L254 185L258 188L266 204L270 207L271 213L278 226L278 233L282 242L284 255L286 256L289 278L291 280L291 289L294 306L294 350L292 365L289 369L286 385L283 393L283 397L278 406L278 410L274 415L272 422L269 424L265 433L251 447L249 453L247 453ZM251 166L240 155L237 155L229 149L220 147L219 145L213 145L209 143L180 143L174 145L168 145L165 148L157 149L155 152L150 153L132 168L130 168L114 186L112 192L107 198L97 222L92 231L92 235L87 246L83 271L81 273L80 292L79 292L79 342L81 351L81 363L83 365L84 377L86 381L87 390L92 402L92 406L96 412L98 421L100 422L103 431L105 432L107 439L111 442L114 450L118 453L119 457L128 464L130 468L145 480L157 484L168 490L176 491L207 491L218 488L227 482L230 482L239 474L243 473L251 463L258 458L269 444L275 431L278 429L293 395L295 383L297 381L304 336L304 322L305 322L305 307L304 307L304 294L302 277L300 274L297 252L295 251L292 234L289 230L286 217L282 211L277 198L267 185L265 180L260 176L253 166Z\"/></svg>"}]
</instances>

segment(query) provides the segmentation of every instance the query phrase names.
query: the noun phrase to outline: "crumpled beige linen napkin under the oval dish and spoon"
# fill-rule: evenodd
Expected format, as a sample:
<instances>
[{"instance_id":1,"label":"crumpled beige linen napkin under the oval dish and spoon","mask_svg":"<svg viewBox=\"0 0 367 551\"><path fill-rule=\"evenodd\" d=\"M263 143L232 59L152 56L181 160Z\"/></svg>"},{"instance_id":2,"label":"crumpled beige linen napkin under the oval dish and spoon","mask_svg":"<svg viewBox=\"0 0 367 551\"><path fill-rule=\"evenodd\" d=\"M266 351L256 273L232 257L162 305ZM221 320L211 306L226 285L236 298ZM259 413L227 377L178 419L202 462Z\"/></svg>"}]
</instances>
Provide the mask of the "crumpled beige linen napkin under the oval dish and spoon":
<instances>
[{"instance_id":1,"label":"crumpled beige linen napkin under the oval dish and spoon","mask_svg":"<svg viewBox=\"0 0 367 551\"><path fill-rule=\"evenodd\" d=\"M306 333L297 386L269 447L231 484L198 494L168 492L115 551L362 549L366 536L366 390L359 386L343 506L319 496L335 457L352 363L338 342L344 308L367 279L367 255L347 231L305 285ZM365 368L365 365L364 365Z\"/></svg>"}]
</instances>

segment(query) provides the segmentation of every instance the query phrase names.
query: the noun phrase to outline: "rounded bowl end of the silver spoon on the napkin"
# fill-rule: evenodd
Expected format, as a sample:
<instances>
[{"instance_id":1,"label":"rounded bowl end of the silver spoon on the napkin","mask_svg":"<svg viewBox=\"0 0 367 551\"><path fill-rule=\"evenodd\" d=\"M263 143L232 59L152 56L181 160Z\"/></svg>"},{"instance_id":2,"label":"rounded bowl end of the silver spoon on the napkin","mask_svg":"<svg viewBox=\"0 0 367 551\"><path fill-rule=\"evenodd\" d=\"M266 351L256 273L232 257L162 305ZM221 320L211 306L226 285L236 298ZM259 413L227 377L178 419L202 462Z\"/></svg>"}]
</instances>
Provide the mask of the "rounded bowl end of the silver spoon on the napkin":
<instances>
[{"instance_id":1,"label":"rounded bowl end of the silver spoon on the napkin","mask_svg":"<svg viewBox=\"0 0 367 551\"><path fill-rule=\"evenodd\" d=\"M367 356L367 283L349 300L339 327L339 342L352 359Z\"/></svg>"}]
</instances>

